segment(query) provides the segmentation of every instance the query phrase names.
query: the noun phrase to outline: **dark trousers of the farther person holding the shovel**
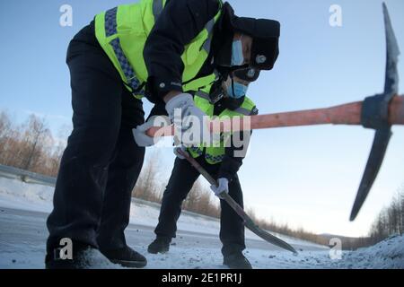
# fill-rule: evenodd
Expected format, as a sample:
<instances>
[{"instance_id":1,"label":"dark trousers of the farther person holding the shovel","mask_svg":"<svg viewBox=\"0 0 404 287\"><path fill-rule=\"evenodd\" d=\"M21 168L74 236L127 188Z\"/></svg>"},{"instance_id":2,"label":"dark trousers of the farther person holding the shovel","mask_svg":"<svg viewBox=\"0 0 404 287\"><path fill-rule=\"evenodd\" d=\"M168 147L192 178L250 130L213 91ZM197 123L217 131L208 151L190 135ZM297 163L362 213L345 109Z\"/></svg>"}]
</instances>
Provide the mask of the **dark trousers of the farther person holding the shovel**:
<instances>
[{"instance_id":1,"label":"dark trousers of the farther person holding the shovel","mask_svg":"<svg viewBox=\"0 0 404 287\"><path fill-rule=\"evenodd\" d=\"M198 162L214 178L218 173L219 165L208 164L202 157ZM181 213L181 204L189 194L190 189L199 177L198 170L194 169L187 160L177 158L171 172L171 178L162 196L159 223L154 232L157 236L175 238L177 221ZM242 187L237 175L229 182L229 195L243 206ZM242 218L233 211L232 207L224 200L220 200L220 240L223 243L224 256L242 252L245 249L244 225Z\"/></svg>"}]
</instances>

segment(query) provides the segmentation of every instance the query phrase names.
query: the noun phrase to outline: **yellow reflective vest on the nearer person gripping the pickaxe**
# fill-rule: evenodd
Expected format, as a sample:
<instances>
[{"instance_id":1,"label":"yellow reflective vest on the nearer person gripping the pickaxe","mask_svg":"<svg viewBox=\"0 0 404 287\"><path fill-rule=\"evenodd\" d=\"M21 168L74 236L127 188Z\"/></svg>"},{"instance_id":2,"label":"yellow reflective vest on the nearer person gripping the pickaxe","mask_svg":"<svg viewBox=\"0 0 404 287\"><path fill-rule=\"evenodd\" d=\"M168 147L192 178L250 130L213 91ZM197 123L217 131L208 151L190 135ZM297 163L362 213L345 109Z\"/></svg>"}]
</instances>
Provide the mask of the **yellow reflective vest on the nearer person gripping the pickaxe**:
<instances>
[{"instance_id":1,"label":"yellow reflective vest on the nearer person gripping the pickaxe","mask_svg":"<svg viewBox=\"0 0 404 287\"><path fill-rule=\"evenodd\" d=\"M95 36L129 91L144 95L148 74L143 58L145 41L162 13L166 0L141 0L122 4L95 17ZM215 17L206 23L197 37L185 47L182 83L196 77L211 48L215 22L221 15L222 2ZM195 87L193 87L195 89Z\"/></svg>"}]
</instances>

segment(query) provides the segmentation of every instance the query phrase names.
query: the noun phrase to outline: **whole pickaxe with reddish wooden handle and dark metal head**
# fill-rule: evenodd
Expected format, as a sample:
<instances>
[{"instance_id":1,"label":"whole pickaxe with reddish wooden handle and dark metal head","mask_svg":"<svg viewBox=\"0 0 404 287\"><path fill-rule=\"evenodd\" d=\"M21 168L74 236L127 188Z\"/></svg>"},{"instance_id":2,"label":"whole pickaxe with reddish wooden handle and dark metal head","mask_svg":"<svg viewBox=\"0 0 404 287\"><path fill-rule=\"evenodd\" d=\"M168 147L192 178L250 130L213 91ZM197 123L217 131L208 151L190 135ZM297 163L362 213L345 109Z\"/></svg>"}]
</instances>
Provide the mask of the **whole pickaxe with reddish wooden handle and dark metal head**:
<instances>
[{"instance_id":1,"label":"whole pickaxe with reddish wooden handle and dark metal head","mask_svg":"<svg viewBox=\"0 0 404 287\"><path fill-rule=\"evenodd\" d=\"M373 186L374 179L380 170L382 161L391 138L392 125L404 125L404 96L398 95L399 74L397 64L400 49L391 26L391 20L386 4L383 4L384 25L387 45L387 61L385 72L384 92L364 101L358 101L332 107L328 109L311 109L293 112L267 114L249 117L245 126L244 120L233 125L229 120L212 120L209 129L220 125L220 132L237 131L243 129L261 129L285 126L312 126L312 125L362 125L376 130L372 150L364 170L364 175L356 194L350 220L356 219L357 213L364 204L364 200ZM152 127L147 135L174 135L173 126Z\"/></svg>"}]
</instances>

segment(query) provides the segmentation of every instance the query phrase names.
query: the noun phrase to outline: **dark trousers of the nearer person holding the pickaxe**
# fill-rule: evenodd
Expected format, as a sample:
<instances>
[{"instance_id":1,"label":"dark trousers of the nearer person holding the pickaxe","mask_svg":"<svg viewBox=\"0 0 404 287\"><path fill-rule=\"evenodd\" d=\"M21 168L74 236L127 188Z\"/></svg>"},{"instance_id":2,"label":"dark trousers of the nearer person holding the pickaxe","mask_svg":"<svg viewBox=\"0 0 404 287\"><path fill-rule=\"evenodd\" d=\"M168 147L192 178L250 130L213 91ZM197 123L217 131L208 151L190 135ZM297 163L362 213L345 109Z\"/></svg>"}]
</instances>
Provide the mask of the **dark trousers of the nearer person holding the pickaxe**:
<instances>
[{"instance_id":1,"label":"dark trousers of the nearer person holding the pickaxe","mask_svg":"<svg viewBox=\"0 0 404 287\"><path fill-rule=\"evenodd\" d=\"M81 30L69 45L73 132L60 163L48 253L62 238L95 248L126 246L131 191L144 161L132 128L144 123L142 102L124 87L94 36Z\"/></svg>"}]
</instances>

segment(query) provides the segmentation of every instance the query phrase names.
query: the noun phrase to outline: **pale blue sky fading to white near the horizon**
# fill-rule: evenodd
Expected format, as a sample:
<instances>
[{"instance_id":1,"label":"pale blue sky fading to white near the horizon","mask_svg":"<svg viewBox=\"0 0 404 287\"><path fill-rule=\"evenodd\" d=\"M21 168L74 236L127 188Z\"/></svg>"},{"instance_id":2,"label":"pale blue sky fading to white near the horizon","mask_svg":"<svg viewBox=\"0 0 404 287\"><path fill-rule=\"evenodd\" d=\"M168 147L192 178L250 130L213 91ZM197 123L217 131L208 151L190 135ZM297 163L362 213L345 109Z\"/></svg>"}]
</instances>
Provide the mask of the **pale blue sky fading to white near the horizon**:
<instances>
[{"instance_id":1,"label":"pale blue sky fading to white near the horizon","mask_svg":"<svg viewBox=\"0 0 404 287\"><path fill-rule=\"evenodd\" d=\"M22 120L35 112L57 132L70 125L69 40L92 17L132 1L0 2L0 109ZM237 14L281 22L280 56L249 95L261 114L328 107L382 91L385 42L382 1L231 0ZM404 2L386 1L401 49ZM59 8L73 7L73 27L61 27ZM329 26L329 6L342 8L343 26ZM404 59L400 59L404 79ZM402 92L403 83L400 83ZM150 109L146 104L145 109ZM364 235L404 183L404 128L394 127L382 170L356 222L348 222L373 141L360 126L260 130L240 172L246 205L263 218L315 232ZM171 170L171 149L162 148ZM167 172L167 176L169 172Z\"/></svg>"}]
</instances>

